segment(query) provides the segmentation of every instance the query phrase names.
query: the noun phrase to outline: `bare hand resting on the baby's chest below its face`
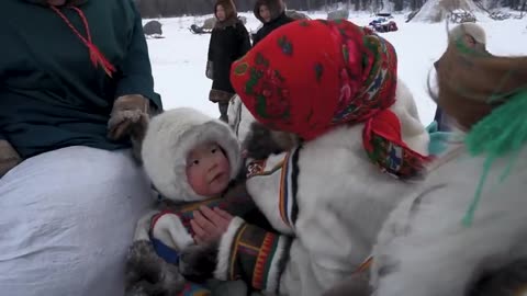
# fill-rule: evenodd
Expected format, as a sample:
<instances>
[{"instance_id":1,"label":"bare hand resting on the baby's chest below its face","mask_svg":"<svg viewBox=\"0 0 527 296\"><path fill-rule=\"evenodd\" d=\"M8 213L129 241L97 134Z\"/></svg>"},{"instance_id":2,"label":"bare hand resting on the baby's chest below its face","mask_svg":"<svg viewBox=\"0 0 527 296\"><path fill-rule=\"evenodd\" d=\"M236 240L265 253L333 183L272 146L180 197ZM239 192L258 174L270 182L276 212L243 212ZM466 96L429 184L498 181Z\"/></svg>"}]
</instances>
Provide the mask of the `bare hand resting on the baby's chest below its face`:
<instances>
[{"instance_id":1,"label":"bare hand resting on the baby's chest below its face","mask_svg":"<svg viewBox=\"0 0 527 296\"><path fill-rule=\"evenodd\" d=\"M194 218L190 220L195 234L195 242L198 244L216 242L227 231L232 219L233 216L225 210L201 206L200 210L194 212Z\"/></svg>"}]
</instances>

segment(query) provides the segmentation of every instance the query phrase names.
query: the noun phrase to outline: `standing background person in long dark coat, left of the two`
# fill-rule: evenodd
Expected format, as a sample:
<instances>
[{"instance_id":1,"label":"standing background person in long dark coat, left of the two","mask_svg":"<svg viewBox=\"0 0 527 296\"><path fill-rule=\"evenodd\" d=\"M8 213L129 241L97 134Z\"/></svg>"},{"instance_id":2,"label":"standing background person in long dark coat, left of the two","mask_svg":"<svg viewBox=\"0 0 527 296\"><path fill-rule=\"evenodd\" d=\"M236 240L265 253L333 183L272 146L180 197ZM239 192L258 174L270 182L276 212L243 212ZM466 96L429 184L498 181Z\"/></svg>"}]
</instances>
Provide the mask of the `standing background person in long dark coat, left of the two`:
<instances>
[{"instance_id":1,"label":"standing background person in long dark coat, left of the two","mask_svg":"<svg viewBox=\"0 0 527 296\"><path fill-rule=\"evenodd\" d=\"M231 0L218 0L214 5L217 21L212 30L205 75L212 79L209 100L217 103L220 119L228 123L228 102L235 94L231 84L231 65L250 49L247 29L238 19Z\"/></svg>"}]
</instances>

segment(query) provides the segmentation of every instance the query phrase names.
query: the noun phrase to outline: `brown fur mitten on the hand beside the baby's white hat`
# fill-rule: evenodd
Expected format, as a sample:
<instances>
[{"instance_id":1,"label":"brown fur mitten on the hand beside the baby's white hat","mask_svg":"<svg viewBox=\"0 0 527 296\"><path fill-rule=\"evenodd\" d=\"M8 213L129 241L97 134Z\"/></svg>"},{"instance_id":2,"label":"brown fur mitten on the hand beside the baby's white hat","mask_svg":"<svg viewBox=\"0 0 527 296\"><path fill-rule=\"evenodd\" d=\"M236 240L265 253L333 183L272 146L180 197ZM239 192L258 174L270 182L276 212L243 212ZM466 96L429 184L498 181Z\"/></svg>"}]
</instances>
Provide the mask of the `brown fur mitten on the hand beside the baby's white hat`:
<instances>
[{"instance_id":1,"label":"brown fur mitten on the hand beside the baby's white hat","mask_svg":"<svg viewBox=\"0 0 527 296\"><path fill-rule=\"evenodd\" d=\"M141 94L128 94L115 100L108 122L108 137L112 140L130 137L134 158L138 162L141 162L141 146L152 113L148 99Z\"/></svg>"}]
</instances>

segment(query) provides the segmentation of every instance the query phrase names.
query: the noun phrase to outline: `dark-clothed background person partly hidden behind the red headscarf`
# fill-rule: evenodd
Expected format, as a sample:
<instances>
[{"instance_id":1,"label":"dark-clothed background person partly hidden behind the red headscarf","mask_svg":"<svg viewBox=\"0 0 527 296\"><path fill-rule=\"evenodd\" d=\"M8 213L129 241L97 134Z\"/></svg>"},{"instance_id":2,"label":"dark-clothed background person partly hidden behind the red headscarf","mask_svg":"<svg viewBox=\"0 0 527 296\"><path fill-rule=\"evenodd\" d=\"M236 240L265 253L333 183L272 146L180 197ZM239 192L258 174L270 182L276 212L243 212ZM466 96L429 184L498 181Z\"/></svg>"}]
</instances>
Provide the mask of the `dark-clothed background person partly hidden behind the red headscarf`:
<instances>
[{"instance_id":1,"label":"dark-clothed background person partly hidden behind the red headscarf","mask_svg":"<svg viewBox=\"0 0 527 296\"><path fill-rule=\"evenodd\" d=\"M266 23L264 19L260 16L260 7L266 5L271 13L271 20ZM280 0L258 0L256 1L254 13L256 19L258 19L264 25L256 32L253 36L253 46L256 46L261 39L264 39L267 35L269 35L276 29L288 24L293 19L285 15L285 9L283 2Z\"/></svg>"}]
</instances>

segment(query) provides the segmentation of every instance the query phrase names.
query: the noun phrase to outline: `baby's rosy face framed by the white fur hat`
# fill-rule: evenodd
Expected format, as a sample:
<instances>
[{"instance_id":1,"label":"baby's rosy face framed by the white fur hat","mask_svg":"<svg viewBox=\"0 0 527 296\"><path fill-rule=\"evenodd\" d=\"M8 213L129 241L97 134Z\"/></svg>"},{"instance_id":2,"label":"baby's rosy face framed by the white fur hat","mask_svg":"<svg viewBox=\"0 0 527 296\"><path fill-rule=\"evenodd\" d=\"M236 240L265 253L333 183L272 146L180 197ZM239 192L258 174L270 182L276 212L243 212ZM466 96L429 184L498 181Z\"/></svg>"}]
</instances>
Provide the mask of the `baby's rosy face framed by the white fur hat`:
<instances>
[{"instance_id":1,"label":"baby's rosy face framed by the white fur hat","mask_svg":"<svg viewBox=\"0 0 527 296\"><path fill-rule=\"evenodd\" d=\"M202 144L189 152L187 180L192 190L203 196L214 197L227 189L231 164L217 144Z\"/></svg>"}]
</instances>

